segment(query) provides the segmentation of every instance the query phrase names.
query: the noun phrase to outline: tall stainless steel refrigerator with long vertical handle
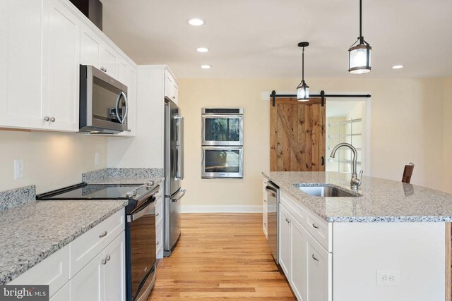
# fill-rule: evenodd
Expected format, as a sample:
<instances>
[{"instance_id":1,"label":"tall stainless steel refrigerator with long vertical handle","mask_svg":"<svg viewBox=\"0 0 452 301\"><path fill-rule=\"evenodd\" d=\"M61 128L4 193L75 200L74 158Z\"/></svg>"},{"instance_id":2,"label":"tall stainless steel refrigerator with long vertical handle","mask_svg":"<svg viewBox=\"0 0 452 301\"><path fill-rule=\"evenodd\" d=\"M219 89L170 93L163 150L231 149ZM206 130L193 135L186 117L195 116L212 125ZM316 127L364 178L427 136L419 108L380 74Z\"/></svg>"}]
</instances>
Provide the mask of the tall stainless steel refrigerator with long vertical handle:
<instances>
[{"instance_id":1,"label":"tall stainless steel refrigerator with long vertical handle","mask_svg":"<svg viewBox=\"0 0 452 301\"><path fill-rule=\"evenodd\" d=\"M165 200L163 209L163 256L169 257L181 234L180 206L185 190L184 179L184 117L179 106L165 99Z\"/></svg>"}]
</instances>

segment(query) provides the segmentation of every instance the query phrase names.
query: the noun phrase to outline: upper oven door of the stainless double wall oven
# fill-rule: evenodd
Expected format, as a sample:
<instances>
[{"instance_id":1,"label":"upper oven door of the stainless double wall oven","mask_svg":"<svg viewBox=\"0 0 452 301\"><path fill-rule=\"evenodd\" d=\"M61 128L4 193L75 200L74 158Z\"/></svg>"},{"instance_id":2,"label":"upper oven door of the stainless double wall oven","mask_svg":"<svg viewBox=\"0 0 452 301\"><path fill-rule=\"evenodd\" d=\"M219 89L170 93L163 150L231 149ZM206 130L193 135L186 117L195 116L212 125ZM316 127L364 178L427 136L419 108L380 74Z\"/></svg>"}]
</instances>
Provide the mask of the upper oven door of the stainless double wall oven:
<instances>
[{"instance_id":1,"label":"upper oven door of the stainless double wall oven","mask_svg":"<svg viewBox=\"0 0 452 301\"><path fill-rule=\"evenodd\" d=\"M203 116L204 145L243 145L243 116Z\"/></svg>"}]
</instances>

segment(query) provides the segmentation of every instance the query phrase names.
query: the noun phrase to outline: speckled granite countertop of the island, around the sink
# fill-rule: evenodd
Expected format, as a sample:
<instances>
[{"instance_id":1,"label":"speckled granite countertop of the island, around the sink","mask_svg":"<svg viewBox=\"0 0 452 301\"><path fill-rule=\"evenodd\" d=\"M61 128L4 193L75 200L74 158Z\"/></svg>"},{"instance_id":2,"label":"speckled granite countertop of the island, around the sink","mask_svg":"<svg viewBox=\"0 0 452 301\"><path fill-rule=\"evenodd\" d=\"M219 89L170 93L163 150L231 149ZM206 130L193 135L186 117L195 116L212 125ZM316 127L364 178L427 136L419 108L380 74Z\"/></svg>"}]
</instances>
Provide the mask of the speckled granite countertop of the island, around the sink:
<instances>
[{"instance_id":1,"label":"speckled granite countertop of the island, around the sink","mask_svg":"<svg viewBox=\"0 0 452 301\"><path fill-rule=\"evenodd\" d=\"M452 221L452 195L422 186L364 176L360 197L314 197L294 184L328 183L352 192L350 173L287 171L263 176L328 222Z\"/></svg>"}]
</instances>

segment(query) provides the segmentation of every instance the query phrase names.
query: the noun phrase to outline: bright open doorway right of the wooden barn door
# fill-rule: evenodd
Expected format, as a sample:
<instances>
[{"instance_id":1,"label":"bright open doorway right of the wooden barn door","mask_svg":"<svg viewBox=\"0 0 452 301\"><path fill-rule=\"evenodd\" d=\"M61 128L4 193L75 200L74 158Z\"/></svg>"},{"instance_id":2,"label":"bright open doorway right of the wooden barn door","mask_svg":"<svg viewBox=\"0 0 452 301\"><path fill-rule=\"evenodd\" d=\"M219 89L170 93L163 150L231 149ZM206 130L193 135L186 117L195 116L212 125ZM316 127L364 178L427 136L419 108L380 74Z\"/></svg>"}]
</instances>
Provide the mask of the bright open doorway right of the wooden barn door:
<instances>
[{"instance_id":1,"label":"bright open doorway right of the wooden barn door","mask_svg":"<svg viewBox=\"0 0 452 301\"><path fill-rule=\"evenodd\" d=\"M364 99L332 99L326 106L326 171L350 173L352 151L341 147L331 158L331 150L341 142L357 149L357 173L370 174L370 104Z\"/></svg>"}]
</instances>

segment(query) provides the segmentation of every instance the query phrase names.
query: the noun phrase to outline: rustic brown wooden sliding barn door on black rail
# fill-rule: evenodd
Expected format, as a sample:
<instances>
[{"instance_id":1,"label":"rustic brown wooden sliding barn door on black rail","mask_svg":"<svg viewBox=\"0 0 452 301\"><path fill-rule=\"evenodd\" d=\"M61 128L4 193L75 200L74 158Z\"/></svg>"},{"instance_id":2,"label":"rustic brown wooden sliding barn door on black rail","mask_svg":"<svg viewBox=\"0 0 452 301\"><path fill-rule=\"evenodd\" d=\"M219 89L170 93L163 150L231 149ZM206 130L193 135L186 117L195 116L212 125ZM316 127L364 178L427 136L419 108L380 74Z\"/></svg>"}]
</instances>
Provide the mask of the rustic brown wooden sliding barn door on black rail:
<instances>
[{"instance_id":1,"label":"rustic brown wooden sliding barn door on black rail","mask_svg":"<svg viewBox=\"0 0 452 301\"><path fill-rule=\"evenodd\" d=\"M320 99L270 101L270 171L325 171L325 120Z\"/></svg>"}]
</instances>

